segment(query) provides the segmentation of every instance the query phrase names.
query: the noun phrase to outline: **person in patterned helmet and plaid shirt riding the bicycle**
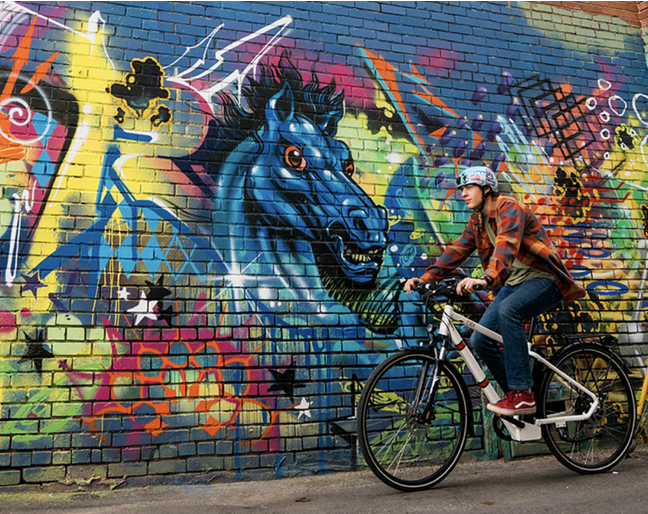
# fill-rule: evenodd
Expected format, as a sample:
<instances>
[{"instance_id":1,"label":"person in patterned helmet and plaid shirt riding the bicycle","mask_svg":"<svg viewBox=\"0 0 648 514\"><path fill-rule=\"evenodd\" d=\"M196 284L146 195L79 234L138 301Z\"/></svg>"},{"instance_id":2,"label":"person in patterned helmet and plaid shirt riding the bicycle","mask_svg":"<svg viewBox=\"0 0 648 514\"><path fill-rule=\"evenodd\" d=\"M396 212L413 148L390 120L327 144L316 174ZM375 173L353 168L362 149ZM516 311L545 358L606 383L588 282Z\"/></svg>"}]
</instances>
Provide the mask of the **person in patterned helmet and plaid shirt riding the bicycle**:
<instances>
[{"instance_id":1,"label":"person in patterned helmet and plaid shirt riding the bicycle","mask_svg":"<svg viewBox=\"0 0 648 514\"><path fill-rule=\"evenodd\" d=\"M547 232L531 210L510 196L500 196L497 177L486 166L463 170L459 190L473 210L461 237L447 247L421 278L411 278L405 291L421 282L436 282L452 272L475 250L484 269L480 278L464 278L457 293L473 293L476 286L503 286L480 324L498 332L504 352L497 344L474 332L470 339L493 377L506 393L487 409L503 415L534 414L531 363L523 321L546 312L562 300L585 296L574 282Z\"/></svg>"}]
</instances>

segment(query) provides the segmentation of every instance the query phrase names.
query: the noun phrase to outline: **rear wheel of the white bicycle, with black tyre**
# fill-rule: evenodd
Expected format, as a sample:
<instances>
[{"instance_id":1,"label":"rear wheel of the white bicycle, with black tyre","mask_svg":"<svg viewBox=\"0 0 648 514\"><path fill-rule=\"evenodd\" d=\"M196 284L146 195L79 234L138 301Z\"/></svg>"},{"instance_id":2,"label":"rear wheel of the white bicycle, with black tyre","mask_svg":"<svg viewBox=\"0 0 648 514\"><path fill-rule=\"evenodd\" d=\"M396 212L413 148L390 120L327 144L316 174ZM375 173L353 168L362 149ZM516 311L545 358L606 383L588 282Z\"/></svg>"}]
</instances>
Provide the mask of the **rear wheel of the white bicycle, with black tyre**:
<instances>
[{"instance_id":1,"label":"rear wheel of the white bicycle, with black tyre","mask_svg":"<svg viewBox=\"0 0 648 514\"><path fill-rule=\"evenodd\" d=\"M612 469L630 450L637 422L634 392L623 362L604 346L591 342L573 343L551 362L594 392L600 405L588 420L563 427L543 425L544 441L572 471L589 474ZM548 368L539 394L539 418L566 411L586 412L591 405L587 395L567 387Z\"/></svg>"}]
</instances>

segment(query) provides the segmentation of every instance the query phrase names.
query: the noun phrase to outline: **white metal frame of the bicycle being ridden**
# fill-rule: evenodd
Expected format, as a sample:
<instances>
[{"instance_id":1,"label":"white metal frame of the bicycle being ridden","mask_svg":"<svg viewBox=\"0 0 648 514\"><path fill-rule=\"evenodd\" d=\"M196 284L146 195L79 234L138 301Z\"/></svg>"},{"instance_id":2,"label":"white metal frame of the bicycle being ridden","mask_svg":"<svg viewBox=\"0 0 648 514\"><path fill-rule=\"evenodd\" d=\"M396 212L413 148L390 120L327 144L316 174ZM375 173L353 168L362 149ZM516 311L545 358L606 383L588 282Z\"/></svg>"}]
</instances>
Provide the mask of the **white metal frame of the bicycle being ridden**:
<instances>
[{"instance_id":1,"label":"white metal frame of the bicycle being ridden","mask_svg":"<svg viewBox=\"0 0 648 514\"><path fill-rule=\"evenodd\" d=\"M484 371L482 370L481 366L475 359L473 353L470 351L470 348L464 342L457 328L453 325L452 321L457 321L459 323L462 323L463 325L470 327L473 330L476 330L477 332L485 335L490 339L493 339L494 341L497 341L498 343L502 343L502 336L496 332L493 332L492 330L487 329L486 327L483 327L479 323L476 323L466 318L465 316L462 316L457 311L455 311L452 305L446 305L445 308L443 309L443 317L441 318L441 326L439 327L439 334L444 337L450 337L450 341L454 345L455 350L459 352L459 354L465 361L466 366L468 366L468 369L475 377L475 380L484 391L484 394L486 395L488 401L490 403L498 402L501 399L500 396L497 394L495 388L490 383L490 381L486 378ZM589 419L599 406L599 400L592 391L590 391L589 389L587 389L586 387L582 386L577 381L575 381L573 378L569 377L568 375L560 371L549 361L547 361L547 359L537 354L536 352L532 351L530 342L528 343L528 345L529 345L529 355L532 358L541 362L544 366L546 366L554 373L556 373L560 378L562 378L564 385L572 389L578 389L579 391L589 396L592 399L592 404L590 405L589 410L584 414L571 415L566 413L557 413L557 414L552 414L548 418L537 418L534 420L533 423L522 421L521 419L518 419L517 416L514 416L515 419L518 420L518 422L524 423L524 428L519 428L515 426L513 423L502 418L502 421L504 422L504 425L508 429L511 439L513 439L514 441L536 441L538 439L541 439L542 434L540 431L540 427L542 425L554 424L559 427L560 426L564 427L568 421L583 421ZM440 357L443 358L443 356Z\"/></svg>"}]
</instances>

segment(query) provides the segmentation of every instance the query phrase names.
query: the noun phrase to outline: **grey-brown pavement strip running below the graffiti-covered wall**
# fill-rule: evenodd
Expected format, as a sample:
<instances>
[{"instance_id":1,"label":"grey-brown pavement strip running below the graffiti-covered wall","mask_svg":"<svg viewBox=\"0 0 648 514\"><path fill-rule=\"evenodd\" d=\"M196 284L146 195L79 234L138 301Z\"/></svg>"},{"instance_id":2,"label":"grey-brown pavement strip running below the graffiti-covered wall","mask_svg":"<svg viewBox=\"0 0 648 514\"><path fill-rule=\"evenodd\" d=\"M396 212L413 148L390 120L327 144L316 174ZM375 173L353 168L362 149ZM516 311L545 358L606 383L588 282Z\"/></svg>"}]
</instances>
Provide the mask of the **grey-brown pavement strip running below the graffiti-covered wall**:
<instances>
[{"instance_id":1,"label":"grey-brown pavement strip running below the graffiti-covered wall","mask_svg":"<svg viewBox=\"0 0 648 514\"><path fill-rule=\"evenodd\" d=\"M461 462L437 487L402 493L370 471L255 482L0 490L2 514L624 514L648 512L648 448L613 471L578 475L551 456Z\"/></svg>"}]
</instances>

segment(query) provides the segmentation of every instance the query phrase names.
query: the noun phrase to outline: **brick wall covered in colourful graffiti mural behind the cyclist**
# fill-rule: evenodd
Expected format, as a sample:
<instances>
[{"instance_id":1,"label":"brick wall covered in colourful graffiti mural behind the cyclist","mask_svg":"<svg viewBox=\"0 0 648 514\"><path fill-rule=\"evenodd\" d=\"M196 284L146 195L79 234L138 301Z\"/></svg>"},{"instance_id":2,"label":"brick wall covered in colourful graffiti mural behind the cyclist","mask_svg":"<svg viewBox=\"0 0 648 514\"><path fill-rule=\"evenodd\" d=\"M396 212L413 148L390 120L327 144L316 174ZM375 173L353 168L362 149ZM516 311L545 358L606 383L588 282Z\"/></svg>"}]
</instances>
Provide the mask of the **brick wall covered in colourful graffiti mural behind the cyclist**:
<instances>
[{"instance_id":1,"label":"brick wall covered in colourful graffiti mural behind the cyclist","mask_svg":"<svg viewBox=\"0 0 648 514\"><path fill-rule=\"evenodd\" d=\"M472 164L588 291L544 329L643 376L643 5L0 9L0 485L354 468ZM469 384L472 456L511 451Z\"/></svg>"}]
</instances>

